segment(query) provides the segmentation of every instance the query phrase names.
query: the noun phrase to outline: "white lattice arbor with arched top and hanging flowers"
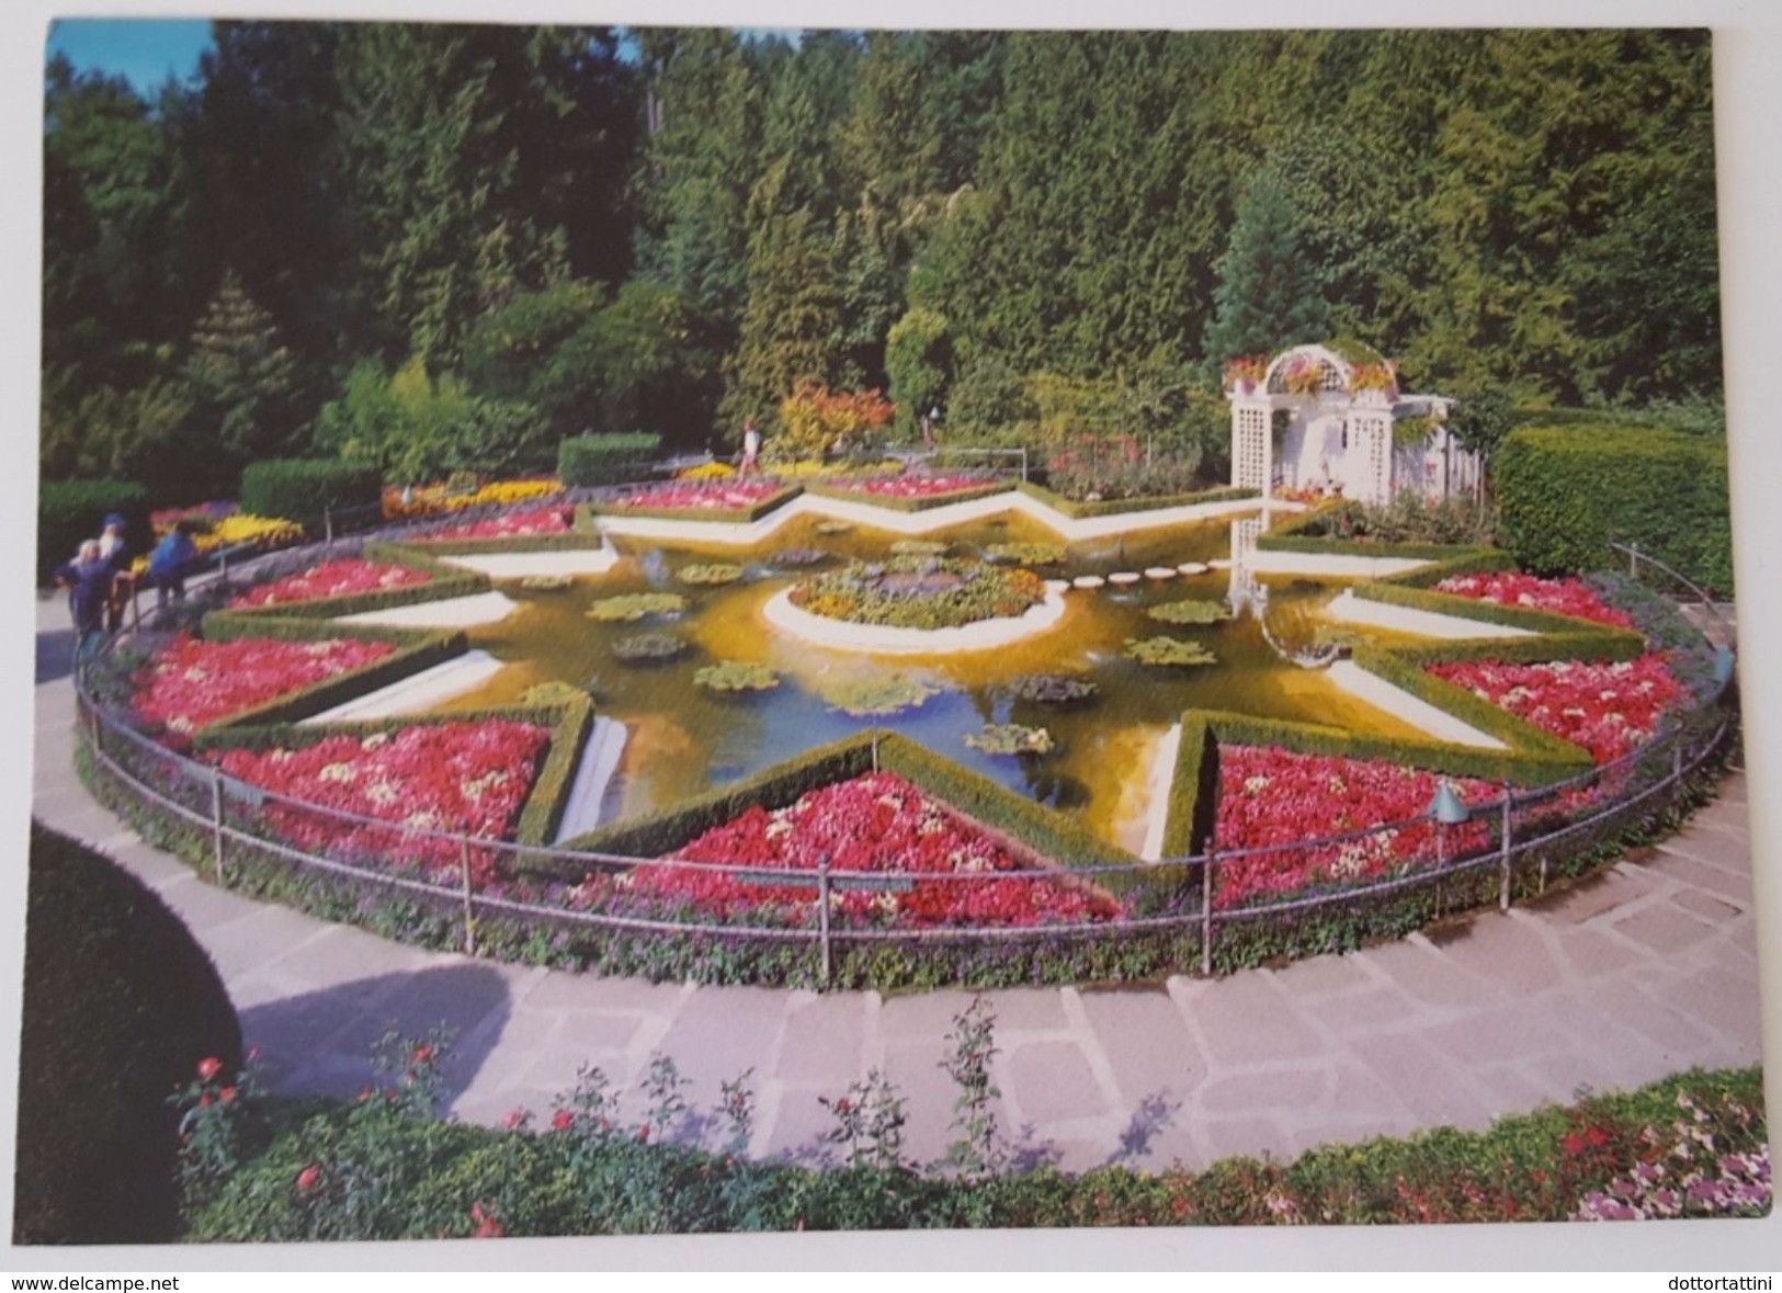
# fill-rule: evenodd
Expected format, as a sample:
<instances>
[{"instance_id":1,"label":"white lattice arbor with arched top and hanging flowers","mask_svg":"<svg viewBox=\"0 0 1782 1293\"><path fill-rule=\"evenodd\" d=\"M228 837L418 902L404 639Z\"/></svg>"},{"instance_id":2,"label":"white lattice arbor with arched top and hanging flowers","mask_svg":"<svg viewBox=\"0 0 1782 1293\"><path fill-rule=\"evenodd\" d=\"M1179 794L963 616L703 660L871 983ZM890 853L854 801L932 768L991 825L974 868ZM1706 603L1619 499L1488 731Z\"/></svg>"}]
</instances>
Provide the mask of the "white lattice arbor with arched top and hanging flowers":
<instances>
[{"instance_id":1,"label":"white lattice arbor with arched top and hanging flowers","mask_svg":"<svg viewBox=\"0 0 1782 1293\"><path fill-rule=\"evenodd\" d=\"M1386 502L1470 493L1479 459L1447 429L1449 401L1406 395L1377 353L1345 344L1296 346L1226 367L1231 484Z\"/></svg>"}]
</instances>

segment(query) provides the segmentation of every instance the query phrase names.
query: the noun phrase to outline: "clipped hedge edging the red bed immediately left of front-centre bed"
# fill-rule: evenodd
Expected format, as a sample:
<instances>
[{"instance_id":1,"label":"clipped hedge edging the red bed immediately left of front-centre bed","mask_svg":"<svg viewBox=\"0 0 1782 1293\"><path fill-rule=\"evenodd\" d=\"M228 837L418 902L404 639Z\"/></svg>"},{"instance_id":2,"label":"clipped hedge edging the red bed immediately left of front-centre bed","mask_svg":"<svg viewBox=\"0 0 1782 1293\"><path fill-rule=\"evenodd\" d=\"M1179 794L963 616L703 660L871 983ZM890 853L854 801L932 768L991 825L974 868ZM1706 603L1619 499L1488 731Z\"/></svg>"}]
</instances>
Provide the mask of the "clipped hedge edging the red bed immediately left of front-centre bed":
<instances>
[{"instance_id":1,"label":"clipped hedge edging the red bed immediately left of front-centre bed","mask_svg":"<svg viewBox=\"0 0 1782 1293\"><path fill-rule=\"evenodd\" d=\"M483 723L508 720L517 723L544 723L551 728L551 744L526 803L515 823L513 841L547 846L568 807L568 784L588 743L593 723L593 702L584 696L565 696L544 705L495 705L444 714L396 714L364 721L303 723L280 720L253 727L207 727L194 744L201 750L299 750L330 736L367 737L380 732L399 732L408 727L438 727L442 723Z\"/></svg>"}]
</instances>

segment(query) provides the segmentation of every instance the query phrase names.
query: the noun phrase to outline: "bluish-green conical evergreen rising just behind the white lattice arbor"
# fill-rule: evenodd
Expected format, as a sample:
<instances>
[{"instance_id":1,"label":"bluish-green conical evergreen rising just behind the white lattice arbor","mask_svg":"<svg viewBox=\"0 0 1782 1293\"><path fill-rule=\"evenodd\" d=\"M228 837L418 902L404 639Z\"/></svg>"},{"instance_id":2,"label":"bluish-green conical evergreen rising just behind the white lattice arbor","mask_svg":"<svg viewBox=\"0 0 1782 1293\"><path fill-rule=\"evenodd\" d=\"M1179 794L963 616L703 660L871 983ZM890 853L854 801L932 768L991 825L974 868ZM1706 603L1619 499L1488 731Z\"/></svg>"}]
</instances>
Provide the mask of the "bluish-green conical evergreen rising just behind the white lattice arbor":
<instances>
[{"instance_id":1,"label":"bluish-green conical evergreen rising just behind the white lattice arbor","mask_svg":"<svg viewBox=\"0 0 1782 1293\"><path fill-rule=\"evenodd\" d=\"M1206 328L1208 363L1322 340L1329 306L1320 289L1322 272L1306 255L1287 185L1274 171L1258 171L1219 258L1215 315Z\"/></svg>"}]
</instances>

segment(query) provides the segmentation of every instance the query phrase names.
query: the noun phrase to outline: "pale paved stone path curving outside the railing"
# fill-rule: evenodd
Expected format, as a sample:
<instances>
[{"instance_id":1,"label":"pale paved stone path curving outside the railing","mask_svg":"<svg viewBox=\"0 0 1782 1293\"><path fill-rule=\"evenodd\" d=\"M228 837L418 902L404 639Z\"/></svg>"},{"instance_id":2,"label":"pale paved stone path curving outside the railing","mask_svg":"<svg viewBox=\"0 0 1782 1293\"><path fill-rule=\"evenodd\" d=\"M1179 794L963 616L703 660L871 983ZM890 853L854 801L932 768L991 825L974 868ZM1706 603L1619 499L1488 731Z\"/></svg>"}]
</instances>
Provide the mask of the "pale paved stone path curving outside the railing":
<instances>
[{"instance_id":1,"label":"pale paved stone path curving outside the railing","mask_svg":"<svg viewBox=\"0 0 1782 1293\"><path fill-rule=\"evenodd\" d=\"M282 1090L347 1094L387 1024L458 1029L451 1110L549 1115L581 1063L633 1090L654 1053L695 1104L752 1070L757 1154L814 1154L820 1095L879 1069L911 1152L950 1140L944 1035L971 996L781 992L601 980L397 946L248 901L148 848L71 768L61 602L39 611L34 810L153 885L210 951ZM66 655L66 646L61 648ZM1538 907L1436 939L1151 988L991 992L994 1078L1025 1156L1066 1168L1292 1156L1761 1058L1745 777L1655 850ZM633 1101L633 1108L642 1113Z\"/></svg>"}]
</instances>

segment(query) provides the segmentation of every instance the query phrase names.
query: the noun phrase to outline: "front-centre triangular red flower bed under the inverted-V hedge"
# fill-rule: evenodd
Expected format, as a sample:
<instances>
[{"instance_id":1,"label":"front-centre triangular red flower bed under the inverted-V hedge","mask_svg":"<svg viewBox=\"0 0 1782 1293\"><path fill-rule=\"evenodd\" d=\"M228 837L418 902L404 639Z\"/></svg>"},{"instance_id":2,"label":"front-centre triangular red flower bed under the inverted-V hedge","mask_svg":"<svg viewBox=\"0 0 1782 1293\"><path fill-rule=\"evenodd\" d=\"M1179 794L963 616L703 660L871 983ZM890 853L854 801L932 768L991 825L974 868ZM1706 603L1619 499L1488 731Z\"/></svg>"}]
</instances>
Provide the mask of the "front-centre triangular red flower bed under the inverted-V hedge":
<instances>
[{"instance_id":1,"label":"front-centre triangular red flower bed under the inverted-V hedge","mask_svg":"<svg viewBox=\"0 0 1782 1293\"><path fill-rule=\"evenodd\" d=\"M813 873L827 857L836 871L912 876L902 892L838 885L832 914L859 924L1057 924L1119 914L1108 898L1051 873L996 876L1023 871L1023 860L896 773L884 771L811 791L775 812L754 805L672 857ZM959 873L982 873L984 880L914 878ZM645 864L625 880L629 885L622 887L633 894L691 898L716 915L766 905L809 908L816 899L814 876L775 885L736 871Z\"/></svg>"}]
</instances>

